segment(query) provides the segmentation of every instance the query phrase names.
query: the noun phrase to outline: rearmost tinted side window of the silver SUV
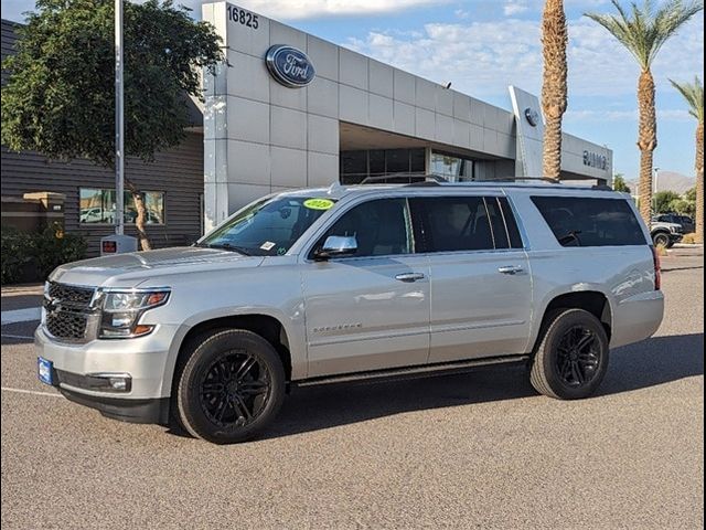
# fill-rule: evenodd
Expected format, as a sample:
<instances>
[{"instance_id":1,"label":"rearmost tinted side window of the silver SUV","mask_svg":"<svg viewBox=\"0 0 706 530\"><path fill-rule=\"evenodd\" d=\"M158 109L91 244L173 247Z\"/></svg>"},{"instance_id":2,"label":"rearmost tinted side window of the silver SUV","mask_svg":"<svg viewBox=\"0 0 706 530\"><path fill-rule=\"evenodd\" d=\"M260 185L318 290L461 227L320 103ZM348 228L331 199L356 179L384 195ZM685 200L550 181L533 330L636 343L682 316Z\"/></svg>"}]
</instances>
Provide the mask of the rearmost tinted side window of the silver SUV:
<instances>
[{"instance_id":1,"label":"rearmost tinted side window of the silver SUV","mask_svg":"<svg viewBox=\"0 0 706 530\"><path fill-rule=\"evenodd\" d=\"M646 244L642 226L623 199L533 197L563 246Z\"/></svg>"}]
</instances>

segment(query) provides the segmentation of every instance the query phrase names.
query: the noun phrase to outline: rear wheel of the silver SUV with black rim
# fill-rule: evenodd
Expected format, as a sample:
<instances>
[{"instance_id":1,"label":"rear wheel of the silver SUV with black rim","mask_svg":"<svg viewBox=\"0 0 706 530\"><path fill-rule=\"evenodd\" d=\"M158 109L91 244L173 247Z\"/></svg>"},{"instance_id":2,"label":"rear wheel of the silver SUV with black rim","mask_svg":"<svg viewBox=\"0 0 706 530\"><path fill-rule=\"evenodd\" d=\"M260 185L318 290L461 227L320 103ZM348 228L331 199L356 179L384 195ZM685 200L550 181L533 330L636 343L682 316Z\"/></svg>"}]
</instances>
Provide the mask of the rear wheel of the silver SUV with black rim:
<instances>
[{"instance_id":1,"label":"rear wheel of the silver SUV with black rim","mask_svg":"<svg viewBox=\"0 0 706 530\"><path fill-rule=\"evenodd\" d=\"M588 398L608 370L603 325L584 309L557 309L546 322L532 363L532 385L558 400Z\"/></svg>"}]
</instances>

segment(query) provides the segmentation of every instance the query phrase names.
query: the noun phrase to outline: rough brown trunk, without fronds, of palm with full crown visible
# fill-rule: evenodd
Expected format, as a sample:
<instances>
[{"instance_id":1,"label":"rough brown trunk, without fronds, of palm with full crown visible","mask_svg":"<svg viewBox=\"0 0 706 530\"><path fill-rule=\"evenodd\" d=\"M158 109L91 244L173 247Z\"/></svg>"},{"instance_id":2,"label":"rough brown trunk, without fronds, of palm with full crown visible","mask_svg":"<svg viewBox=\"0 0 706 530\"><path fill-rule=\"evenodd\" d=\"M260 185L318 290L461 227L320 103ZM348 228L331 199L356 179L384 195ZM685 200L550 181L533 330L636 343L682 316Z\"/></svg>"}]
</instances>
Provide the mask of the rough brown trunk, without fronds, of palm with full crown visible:
<instances>
[{"instance_id":1,"label":"rough brown trunk, without fronds, of palm with full crown visible","mask_svg":"<svg viewBox=\"0 0 706 530\"><path fill-rule=\"evenodd\" d=\"M640 125L640 215L650 225L652 221L652 151L657 147L657 120L654 108L654 80L649 70L643 70L638 83Z\"/></svg>"}]
</instances>

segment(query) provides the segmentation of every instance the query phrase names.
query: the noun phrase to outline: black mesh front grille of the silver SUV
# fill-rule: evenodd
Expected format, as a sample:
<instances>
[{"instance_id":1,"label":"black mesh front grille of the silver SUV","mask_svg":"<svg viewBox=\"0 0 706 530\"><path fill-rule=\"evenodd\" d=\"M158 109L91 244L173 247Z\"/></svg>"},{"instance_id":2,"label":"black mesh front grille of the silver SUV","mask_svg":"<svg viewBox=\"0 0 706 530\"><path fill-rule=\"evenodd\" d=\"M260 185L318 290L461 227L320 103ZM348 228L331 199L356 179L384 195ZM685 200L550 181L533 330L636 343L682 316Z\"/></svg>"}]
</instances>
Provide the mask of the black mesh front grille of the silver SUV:
<instances>
[{"instance_id":1,"label":"black mesh front grille of the silver SUV","mask_svg":"<svg viewBox=\"0 0 706 530\"><path fill-rule=\"evenodd\" d=\"M86 340L95 289L50 282L46 289L46 330L57 339Z\"/></svg>"}]
</instances>

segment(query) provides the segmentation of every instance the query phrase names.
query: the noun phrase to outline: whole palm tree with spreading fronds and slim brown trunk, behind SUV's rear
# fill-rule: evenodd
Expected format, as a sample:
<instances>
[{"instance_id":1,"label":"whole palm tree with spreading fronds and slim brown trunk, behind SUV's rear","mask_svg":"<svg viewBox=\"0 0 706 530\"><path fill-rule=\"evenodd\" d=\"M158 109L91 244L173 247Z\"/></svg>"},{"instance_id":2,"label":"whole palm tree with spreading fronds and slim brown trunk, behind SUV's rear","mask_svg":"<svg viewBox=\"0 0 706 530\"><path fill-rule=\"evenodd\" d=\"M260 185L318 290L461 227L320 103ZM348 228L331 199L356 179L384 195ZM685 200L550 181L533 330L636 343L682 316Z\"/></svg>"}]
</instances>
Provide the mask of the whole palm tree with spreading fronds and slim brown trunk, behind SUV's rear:
<instances>
[{"instance_id":1,"label":"whole palm tree with spreading fronds and slim brown trunk, behind SUV's rear","mask_svg":"<svg viewBox=\"0 0 706 530\"><path fill-rule=\"evenodd\" d=\"M642 8L631 4L630 11L618 0L611 0L618 14L586 13L606 28L638 60L642 72L638 82L640 124L640 214L650 223L652 205L652 153L657 147L657 124L654 107L654 78L650 67L662 45L687 20L704 9L703 0L668 0L655 9L653 0L644 0Z\"/></svg>"}]
</instances>

